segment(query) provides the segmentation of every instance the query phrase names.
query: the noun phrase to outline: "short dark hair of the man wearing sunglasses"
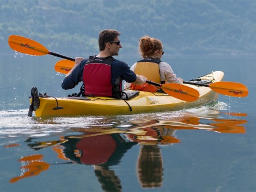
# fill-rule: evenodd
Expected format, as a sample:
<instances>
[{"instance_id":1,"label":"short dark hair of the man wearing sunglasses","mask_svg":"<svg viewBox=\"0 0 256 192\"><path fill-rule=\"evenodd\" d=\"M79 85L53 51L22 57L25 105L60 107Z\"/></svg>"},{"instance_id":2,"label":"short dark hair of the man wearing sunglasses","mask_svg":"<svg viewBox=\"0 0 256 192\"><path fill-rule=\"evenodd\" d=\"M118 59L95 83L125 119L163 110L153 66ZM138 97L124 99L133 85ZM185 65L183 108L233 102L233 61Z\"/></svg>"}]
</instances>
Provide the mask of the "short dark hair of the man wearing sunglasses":
<instances>
[{"instance_id":1,"label":"short dark hair of the man wearing sunglasses","mask_svg":"<svg viewBox=\"0 0 256 192\"><path fill-rule=\"evenodd\" d=\"M100 48L100 51L103 51L105 49L106 43L114 41L115 37L119 35L121 35L120 32L116 30L101 31L100 35L98 35L98 47Z\"/></svg>"}]
</instances>

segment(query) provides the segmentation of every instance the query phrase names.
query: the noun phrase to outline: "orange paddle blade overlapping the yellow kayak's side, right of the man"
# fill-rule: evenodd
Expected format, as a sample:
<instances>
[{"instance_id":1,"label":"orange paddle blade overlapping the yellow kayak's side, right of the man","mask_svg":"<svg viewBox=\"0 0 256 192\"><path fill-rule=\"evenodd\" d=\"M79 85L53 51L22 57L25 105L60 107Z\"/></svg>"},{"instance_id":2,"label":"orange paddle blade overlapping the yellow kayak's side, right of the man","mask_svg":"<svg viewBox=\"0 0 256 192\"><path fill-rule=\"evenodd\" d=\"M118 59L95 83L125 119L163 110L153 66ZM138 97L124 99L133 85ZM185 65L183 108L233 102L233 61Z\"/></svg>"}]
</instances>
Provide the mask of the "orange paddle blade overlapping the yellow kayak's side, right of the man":
<instances>
[{"instance_id":1,"label":"orange paddle blade overlapping the yellow kayak's side, right of the man","mask_svg":"<svg viewBox=\"0 0 256 192\"><path fill-rule=\"evenodd\" d=\"M162 89L168 95L183 101L196 101L199 98L199 91L181 84L163 84Z\"/></svg>"}]
</instances>

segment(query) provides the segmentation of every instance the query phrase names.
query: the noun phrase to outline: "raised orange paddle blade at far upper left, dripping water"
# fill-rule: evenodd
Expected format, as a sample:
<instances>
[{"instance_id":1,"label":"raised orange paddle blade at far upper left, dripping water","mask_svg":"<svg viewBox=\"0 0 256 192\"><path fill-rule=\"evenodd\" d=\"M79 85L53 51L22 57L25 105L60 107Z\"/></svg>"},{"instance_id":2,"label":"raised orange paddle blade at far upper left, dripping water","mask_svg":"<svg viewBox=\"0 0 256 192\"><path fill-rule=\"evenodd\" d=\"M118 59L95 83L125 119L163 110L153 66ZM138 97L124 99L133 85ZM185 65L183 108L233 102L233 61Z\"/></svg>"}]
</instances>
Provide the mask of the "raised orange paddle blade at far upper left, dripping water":
<instances>
[{"instance_id":1,"label":"raised orange paddle blade at far upper left, dripping water","mask_svg":"<svg viewBox=\"0 0 256 192\"><path fill-rule=\"evenodd\" d=\"M42 56L49 53L47 48L42 44L18 35L9 36L8 43L14 51L27 55Z\"/></svg>"}]
</instances>

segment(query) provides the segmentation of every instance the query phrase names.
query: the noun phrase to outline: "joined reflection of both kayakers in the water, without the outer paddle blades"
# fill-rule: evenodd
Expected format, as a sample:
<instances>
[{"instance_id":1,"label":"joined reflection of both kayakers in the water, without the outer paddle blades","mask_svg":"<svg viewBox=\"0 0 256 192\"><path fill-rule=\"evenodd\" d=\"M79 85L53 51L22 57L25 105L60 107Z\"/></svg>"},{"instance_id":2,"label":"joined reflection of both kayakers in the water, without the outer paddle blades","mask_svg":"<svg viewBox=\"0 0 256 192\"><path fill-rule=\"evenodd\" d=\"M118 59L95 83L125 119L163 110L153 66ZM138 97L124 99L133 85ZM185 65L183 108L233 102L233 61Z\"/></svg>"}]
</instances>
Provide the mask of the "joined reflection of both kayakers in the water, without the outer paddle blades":
<instances>
[{"instance_id":1,"label":"joined reflection of both kayakers in the water, without the outer paddle blades","mask_svg":"<svg viewBox=\"0 0 256 192\"><path fill-rule=\"evenodd\" d=\"M150 122L152 123L152 122ZM150 124L149 123L149 124ZM155 122L156 123L156 122ZM138 126L126 131L119 129L90 130L83 135L65 136L57 141L33 142L28 146L38 151L52 147L58 158L77 164L92 165L103 191L121 191L121 181L110 166L118 165L133 145L142 145L137 162L138 179L142 187L159 187L163 181L162 144L179 143L172 129L164 126Z\"/></svg>"}]
</instances>

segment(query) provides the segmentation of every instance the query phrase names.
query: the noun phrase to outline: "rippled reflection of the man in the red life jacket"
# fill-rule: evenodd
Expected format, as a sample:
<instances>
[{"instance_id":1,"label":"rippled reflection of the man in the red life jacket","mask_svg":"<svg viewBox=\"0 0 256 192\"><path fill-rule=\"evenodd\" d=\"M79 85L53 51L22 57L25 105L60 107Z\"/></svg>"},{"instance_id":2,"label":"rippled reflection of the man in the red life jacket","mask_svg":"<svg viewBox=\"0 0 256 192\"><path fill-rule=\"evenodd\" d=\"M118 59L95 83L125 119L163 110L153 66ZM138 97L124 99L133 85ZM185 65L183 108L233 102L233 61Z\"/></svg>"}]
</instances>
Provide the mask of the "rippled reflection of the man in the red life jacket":
<instances>
[{"instance_id":1,"label":"rippled reflection of the man in the red life jacket","mask_svg":"<svg viewBox=\"0 0 256 192\"><path fill-rule=\"evenodd\" d=\"M95 132L80 138L65 137L67 141L61 144L62 149L58 152L55 148L55 151L65 160L92 165L103 191L121 191L121 181L109 166L118 165L122 156L136 143L126 143L118 133L90 136L91 134Z\"/></svg>"}]
</instances>

